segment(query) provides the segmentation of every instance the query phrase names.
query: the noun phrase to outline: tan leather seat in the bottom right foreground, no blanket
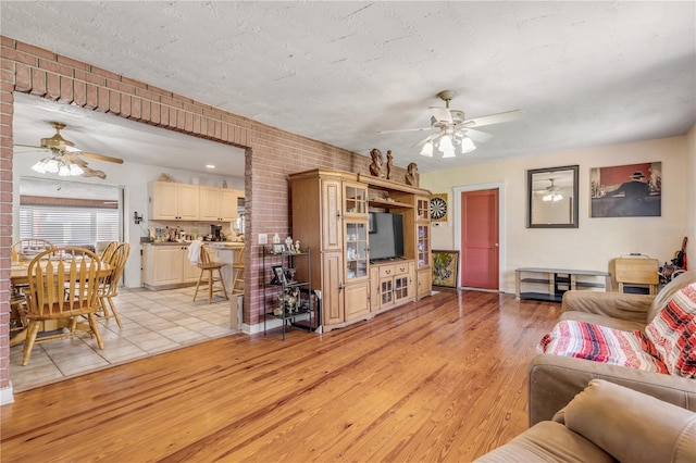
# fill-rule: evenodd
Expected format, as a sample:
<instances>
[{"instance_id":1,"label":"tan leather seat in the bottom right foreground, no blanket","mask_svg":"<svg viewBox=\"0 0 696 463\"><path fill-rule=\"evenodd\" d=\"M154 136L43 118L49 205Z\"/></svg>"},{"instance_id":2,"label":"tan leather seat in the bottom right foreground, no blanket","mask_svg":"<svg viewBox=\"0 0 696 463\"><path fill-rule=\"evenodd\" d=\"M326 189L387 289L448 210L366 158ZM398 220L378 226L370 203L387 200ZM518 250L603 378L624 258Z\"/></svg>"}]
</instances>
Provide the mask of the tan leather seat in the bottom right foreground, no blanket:
<instances>
[{"instance_id":1,"label":"tan leather seat in the bottom right foreground, no blanket","mask_svg":"<svg viewBox=\"0 0 696 463\"><path fill-rule=\"evenodd\" d=\"M696 413L602 379L475 462L694 462Z\"/></svg>"}]
</instances>

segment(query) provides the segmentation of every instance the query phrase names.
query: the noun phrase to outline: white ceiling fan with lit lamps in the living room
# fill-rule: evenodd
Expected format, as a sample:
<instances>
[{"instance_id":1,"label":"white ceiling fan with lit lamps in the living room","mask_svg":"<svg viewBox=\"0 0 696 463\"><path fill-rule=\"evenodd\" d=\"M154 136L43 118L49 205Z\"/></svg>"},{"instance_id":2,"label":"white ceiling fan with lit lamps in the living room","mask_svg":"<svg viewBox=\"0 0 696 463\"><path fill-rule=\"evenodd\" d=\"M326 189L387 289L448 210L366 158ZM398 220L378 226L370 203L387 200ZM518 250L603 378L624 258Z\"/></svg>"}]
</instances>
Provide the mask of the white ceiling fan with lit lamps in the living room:
<instances>
[{"instance_id":1,"label":"white ceiling fan with lit lamps in the living room","mask_svg":"<svg viewBox=\"0 0 696 463\"><path fill-rule=\"evenodd\" d=\"M474 141L486 142L492 138L489 134L477 130L474 127L501 124L524 117L524 111L514 110L467 120L463 111L449 109L449 102L456 96L453 90L443 90L437 96L445 101L445 108L428 108L433 113L430 127L383 130L380 133L432 130L431 135L415 143L414 147L423 145L421 154L428 158L433 157L433 147L437 147L442 151L443 158L453 158L456 147L461 147L461 152L467 153L476 149Z\"/></svg>"}]
</instances>

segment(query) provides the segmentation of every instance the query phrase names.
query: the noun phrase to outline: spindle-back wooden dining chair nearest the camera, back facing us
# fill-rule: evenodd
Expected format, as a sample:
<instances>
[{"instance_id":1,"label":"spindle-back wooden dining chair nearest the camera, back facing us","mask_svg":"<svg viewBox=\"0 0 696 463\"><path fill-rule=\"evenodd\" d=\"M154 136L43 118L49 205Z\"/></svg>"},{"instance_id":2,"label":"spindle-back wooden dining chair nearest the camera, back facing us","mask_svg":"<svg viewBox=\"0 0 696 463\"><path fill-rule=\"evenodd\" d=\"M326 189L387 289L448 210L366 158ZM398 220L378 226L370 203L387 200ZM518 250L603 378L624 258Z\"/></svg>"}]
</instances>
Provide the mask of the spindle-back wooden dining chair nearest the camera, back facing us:
<instances>
[{"instance_id":1,"label":"spindle-back wooden dining chair nearest the camera, back facing us","mask_svg":"<svg viewBox=\"0 0 696 463\"><path fill-rule=\"evenodd\" d=\"M87 317L90 334L97 339L99 349L103 349L95 317L95 312L100 310L99 278L102 272L99 256L84 248L44 251L29 262L29 287L24 291L28 329L22 365L29 362L35 343L74 337L80 315ZM37 338L41 324L51 320L63 322L67 331L62 329L58 334Z\"/></svg>"}]
</instances>

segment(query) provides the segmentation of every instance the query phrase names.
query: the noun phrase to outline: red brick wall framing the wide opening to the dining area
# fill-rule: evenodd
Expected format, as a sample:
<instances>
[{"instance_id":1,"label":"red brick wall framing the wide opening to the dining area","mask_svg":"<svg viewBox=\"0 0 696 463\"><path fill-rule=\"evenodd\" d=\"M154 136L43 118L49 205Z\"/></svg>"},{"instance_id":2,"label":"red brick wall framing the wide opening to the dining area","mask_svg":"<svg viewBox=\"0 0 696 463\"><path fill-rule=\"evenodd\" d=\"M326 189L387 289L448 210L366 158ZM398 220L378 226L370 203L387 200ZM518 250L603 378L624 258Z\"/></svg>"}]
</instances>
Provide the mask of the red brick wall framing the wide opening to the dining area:
<instances>
[{"instance_id":1,"label":"red brick wall framing the wide opening to the dining area","mask_svg":"<svg viewBox=\"0 0 696 463\"><path fill-rule=\"evenodd\" d=\"M182 95L115 74L0 36L1 149L0 164L0 388L9 380L9 268L12 233L12 102L13 92L108 112L145 124L182 132L223 143L245 147L247 210L247 266L245 323L257 323L262 311L259 285L258 235L290 233L290 204L286 176L310 168L368 173L370 159L330 145L228 113ZM405 170L395 179L403 182Z\"/></svg>"}]
</instances>

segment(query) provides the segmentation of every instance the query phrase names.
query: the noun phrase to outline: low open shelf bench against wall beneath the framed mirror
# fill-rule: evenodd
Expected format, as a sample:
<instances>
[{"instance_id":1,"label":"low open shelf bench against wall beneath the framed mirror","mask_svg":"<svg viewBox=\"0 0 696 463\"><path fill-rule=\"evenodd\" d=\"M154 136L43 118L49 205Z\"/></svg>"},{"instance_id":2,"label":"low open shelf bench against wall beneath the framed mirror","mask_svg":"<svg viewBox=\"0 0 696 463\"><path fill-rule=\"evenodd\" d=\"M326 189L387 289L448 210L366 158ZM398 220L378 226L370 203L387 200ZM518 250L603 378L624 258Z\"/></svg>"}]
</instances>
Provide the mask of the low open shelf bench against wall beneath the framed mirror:
<instances>
[{"instance_id":1,"label":"low open shelf bench against wall beneath the framed mirror","mask_svg":"<svg viewBox=\"0 0 696 463\"><path fill-rule=\"evenodd\" d=\"M514 298L560 302L571 289L611 291L607 272L523 267L514 271Z\"/></svg>"}]
</instances>

